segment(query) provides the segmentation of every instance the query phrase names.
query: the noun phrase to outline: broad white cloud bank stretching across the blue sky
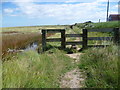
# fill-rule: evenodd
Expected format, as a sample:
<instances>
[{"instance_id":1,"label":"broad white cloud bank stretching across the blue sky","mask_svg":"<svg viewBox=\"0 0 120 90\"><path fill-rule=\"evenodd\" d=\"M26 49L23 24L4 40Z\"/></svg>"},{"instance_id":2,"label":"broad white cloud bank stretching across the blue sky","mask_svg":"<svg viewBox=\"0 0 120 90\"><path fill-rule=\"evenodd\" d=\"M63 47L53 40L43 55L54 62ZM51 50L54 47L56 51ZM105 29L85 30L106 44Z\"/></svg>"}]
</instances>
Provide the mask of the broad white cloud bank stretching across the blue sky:
<instances>
[{"instance_id":1,"label":"broad white cloud bank stretching across the blue sky","mask_svg":"<svg viewBox=\"0 0 120 90\"><path fill-rule=\"evenodd\" d=\"M55 18L58 20L93 20L97 21L98 19L104 20L106 17L106 8L100 8L103 6L100 2L107 0L96 0L89 3L78 3L78 4L37 4L32 1L35 0L14 0L13 2L17 5L21 13L20 15L27 16L29 18ZM24 2L23 2L24 1ZM48 1L48 0L47 0ZM65 1L65 0L64 0ZM71 0L66 0L71 1ZM79 0L72 0L79 1ZM114 0L117 1L117 0ZM7 12L10 12L9 10ZM11 10L11 13L13 11ZM111 13L116 13L111 11ZM15 16L15 14L12 14Z\"/></svg>"}]
</instances>

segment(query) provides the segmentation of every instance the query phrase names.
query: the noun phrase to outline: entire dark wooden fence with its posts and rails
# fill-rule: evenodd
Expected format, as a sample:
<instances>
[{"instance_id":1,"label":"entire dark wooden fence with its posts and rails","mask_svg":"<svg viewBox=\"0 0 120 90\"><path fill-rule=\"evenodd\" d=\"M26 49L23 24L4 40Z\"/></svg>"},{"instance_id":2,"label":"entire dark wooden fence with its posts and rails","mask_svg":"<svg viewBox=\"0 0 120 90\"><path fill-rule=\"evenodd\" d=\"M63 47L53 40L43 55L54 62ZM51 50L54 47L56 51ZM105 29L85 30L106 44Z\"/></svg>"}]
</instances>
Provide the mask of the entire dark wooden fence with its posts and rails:
<instances>
[{"instance_id":1,"label":"entire dark wooden fence with its posts and rails","mask_svg":"<svg viewBox=\"0 0 120 90\"><path fill-rule=\"evenodd\" d=\"M87 47L104 47L108 45L88 45L88 40L113 40L114 43L120 43L120 28L104 28L104 29L83 29L82 34L65 34L65 29L42 29L42 51L46 50L46 42L61 42L61 48L65 49L66 45L82 45ZM113 32L113 37L88 37L89 32ZM47 33L61 33L61 38L47 39ZM82 37L82 41L66 41L67 37Z\"/></svg>"}]
</instances>

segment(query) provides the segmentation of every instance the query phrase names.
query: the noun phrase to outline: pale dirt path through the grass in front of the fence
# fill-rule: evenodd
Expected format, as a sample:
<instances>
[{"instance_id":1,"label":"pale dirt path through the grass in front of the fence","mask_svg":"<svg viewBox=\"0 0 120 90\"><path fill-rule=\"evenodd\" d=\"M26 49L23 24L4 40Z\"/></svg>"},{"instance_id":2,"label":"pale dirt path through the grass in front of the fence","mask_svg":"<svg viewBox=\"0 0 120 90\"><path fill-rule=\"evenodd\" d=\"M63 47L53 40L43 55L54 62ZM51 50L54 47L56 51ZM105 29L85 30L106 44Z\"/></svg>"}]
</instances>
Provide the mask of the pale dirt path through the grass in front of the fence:
<instances>
[{"instance_id":1,"label":"pale dirt path through the grass in front of the fence","mask_svg":"<svg viewBox=\"0 0 120 90\"><path fill-rule=\"evenodd\" d=\"M81 53L66 54L70 58L73 58L73 63L79 62ZM85 76L78 67L65 73L60 82L61 88L82 88L84 86Z\"/></svg>"}]
</instances>

